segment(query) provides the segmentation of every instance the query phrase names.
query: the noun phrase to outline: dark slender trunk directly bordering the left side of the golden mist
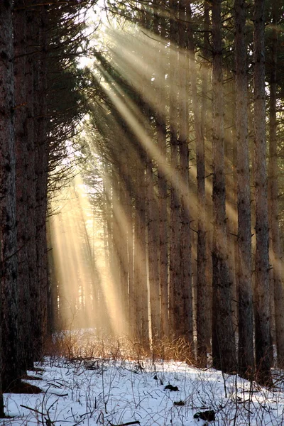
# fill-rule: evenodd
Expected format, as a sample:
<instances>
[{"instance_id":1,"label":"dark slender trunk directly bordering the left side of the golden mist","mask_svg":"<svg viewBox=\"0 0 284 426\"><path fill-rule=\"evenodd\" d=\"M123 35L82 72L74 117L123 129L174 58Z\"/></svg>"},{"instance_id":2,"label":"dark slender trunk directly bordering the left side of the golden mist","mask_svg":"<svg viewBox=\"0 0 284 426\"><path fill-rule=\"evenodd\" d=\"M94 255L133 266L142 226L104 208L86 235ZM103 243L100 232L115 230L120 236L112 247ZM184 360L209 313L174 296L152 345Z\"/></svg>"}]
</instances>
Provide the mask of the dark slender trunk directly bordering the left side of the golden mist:
<instances>
[{"instance_id":1,"label":"dark slender trunk directly bordering the left side of the golden mist","mask_svg":"<svg viewBox=\"0 0 284 426\"><path fill-rule=\"evenodd\" d=\"M39 2L40 3L40 2ZM34 28L37 52L34 60L34 141L35 141L35 230L38 289L31 288L35 300L35 323L33 323L34 354L38 358L43 352L43 342L47 333L48 295L48 249L46 241L47 185L48 185L48 139L46 107L46 31L47 11L41 3L35 5ZM38 300L36 298L38 297Z\"/></svg>"}]
</instances>

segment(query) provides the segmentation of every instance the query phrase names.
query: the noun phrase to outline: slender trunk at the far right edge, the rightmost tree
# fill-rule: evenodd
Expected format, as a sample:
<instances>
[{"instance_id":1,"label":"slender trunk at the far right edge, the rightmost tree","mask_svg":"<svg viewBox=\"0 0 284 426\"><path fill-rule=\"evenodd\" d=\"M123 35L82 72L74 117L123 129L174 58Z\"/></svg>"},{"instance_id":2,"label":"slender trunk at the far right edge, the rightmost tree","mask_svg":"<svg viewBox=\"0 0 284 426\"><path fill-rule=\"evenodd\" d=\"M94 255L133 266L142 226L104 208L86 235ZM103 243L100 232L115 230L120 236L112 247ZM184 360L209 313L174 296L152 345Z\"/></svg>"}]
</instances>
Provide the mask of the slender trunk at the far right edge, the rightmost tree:
<instances>
[{"instance_id":1,"label":"slender trunk at the far right edge, the rightmost tree","mask_svg":"<svg viewBox=\"0 0 284 426\"><path fill-rule=\"evenodd\" d=\"M269 108L269 211L271 229L271 264L273 266L274 310L278 367L284 366L284 289L282 282L283 251L280 243L278 222L278 152L277 152L277 44L278 6L272 5L272 46L271 46L271 75L270 75L270 108Z\"/></svg>"}]
</instances>

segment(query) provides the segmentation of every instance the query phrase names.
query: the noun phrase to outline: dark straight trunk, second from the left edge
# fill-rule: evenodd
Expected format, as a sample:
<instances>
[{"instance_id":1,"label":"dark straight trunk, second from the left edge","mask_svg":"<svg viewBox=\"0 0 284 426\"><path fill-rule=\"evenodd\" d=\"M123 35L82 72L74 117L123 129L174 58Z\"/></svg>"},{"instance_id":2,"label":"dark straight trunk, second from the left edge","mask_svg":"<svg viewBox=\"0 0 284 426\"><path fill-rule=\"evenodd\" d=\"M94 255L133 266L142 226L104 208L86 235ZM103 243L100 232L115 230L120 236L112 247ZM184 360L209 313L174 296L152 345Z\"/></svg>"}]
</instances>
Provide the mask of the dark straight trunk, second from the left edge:
<instances>
[{"instance_id":1,"label":"dark straight trunk, second from the left edge","mask_svg":"<svg viewBox=\"0 0 284 426\"><path fill-rule=\"evenodd\" d=\"M18 339L19 364L25 373L31 358L31 305L28 271L28 116L26 90L26 9L23 0L14 1L14 79L15 79L15 145L16 145L16 222L18 241Z\"/></svg>"}]
</instances>

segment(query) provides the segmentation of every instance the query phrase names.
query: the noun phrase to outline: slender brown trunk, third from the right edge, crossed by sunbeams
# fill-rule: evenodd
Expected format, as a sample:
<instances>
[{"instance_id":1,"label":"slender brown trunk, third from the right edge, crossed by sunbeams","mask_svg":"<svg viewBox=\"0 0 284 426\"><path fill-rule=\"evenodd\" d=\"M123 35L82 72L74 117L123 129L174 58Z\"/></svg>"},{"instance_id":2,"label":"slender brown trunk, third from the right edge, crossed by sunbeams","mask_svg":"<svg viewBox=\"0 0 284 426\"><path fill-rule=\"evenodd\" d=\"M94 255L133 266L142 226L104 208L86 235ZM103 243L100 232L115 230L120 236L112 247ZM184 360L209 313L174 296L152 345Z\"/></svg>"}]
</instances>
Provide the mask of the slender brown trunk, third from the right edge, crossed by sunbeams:
<instances>
[{"instance_id":1,"label":"slender brown trunk, third from the right edge, crossed by sunbeams","mask_svg":"<svg viewBox=\"0 0 284 426\"><path fill-rule=\"evenodd\" d=\"M239 371L254 370L251 286L251 191L249 175L246 0L235 0L236 19L236 172L238 193Z\"/></svg>"}]
</instances>

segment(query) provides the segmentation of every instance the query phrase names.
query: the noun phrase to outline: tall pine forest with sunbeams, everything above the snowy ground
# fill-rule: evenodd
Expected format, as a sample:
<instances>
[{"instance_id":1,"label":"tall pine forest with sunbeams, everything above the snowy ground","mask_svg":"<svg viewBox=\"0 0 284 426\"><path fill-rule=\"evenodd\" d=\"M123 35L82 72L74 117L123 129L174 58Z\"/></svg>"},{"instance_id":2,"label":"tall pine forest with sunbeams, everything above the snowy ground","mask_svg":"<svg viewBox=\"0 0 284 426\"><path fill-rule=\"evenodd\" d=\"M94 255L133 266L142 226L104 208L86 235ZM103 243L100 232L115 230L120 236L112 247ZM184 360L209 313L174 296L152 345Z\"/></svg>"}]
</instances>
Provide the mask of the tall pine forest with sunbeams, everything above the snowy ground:
<instances>
[{"instance_id":1,"label":"tall pine forest with sunbeams, everything above the snowy ground","mask_svg":"<svg viewBox=\"0 0 284 426\"><path fill-rule=\"evenodd\" d=\"M4 392L67 327L272 383L283 6L1 2Z\"/></svg>"}]
</instances>

